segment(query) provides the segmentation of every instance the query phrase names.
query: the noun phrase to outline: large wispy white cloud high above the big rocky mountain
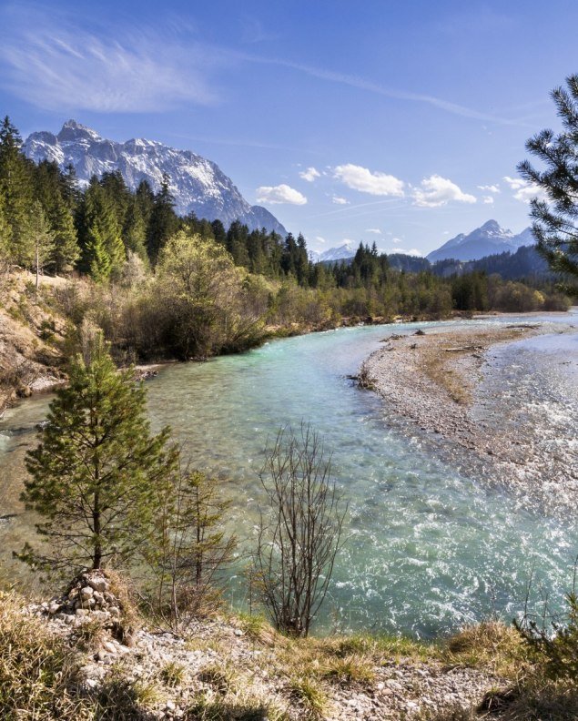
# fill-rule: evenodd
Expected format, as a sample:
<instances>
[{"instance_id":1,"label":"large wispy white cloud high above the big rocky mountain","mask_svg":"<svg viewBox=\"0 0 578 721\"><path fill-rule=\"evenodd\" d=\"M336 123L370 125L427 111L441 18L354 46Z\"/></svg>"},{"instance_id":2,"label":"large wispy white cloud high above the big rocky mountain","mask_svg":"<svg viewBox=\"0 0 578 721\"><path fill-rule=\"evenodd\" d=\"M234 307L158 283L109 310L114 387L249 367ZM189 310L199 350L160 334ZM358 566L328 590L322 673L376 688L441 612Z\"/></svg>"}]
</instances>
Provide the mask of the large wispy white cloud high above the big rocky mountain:
<instances>
[{"instance_id":1,"label":"large wispy white cloud high above the big rocky mountain","mask_svg":"<svg viewBox=\"0 0 578 721\"><path fill-rule=\"evenodd\" d=\"M216 100L210 70L223 59L174 28L90 32L72 14L25 3L5 5L0 28L0 84L36 107L154 113Z\"/></svg>"}]
</instances>

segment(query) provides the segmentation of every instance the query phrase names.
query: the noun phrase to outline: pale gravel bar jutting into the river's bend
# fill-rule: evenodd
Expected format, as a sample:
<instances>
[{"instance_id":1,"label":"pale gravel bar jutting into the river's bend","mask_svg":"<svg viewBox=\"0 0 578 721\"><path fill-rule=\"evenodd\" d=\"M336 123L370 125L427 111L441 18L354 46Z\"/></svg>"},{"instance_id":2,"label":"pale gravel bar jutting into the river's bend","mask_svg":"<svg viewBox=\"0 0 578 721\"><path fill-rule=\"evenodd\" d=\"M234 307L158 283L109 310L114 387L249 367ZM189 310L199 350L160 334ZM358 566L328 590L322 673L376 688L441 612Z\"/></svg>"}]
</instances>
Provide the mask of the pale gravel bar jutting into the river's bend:
<instances>
[{"instance_id":1,"label":"pale gravel bar jutting into the river's bend","mask_svg":"<svg viewBox=\"0 0 578 721\"><path fill-rule=\"evenodd\" d=\"M564 324L556 331L576 332ZM532 398L524 398L522 391L514 388L507 400L492 392L501 381L500 370L490 361L499 346L547 332L553 332L551 324L530 319L503 328L390 334L362 364L360 384L385 401L390 425L419 435L441 457L487 482L510 486L529 505L575 512L578 463L573 448L568 443L553 448L544 428L527 420ZM578 352L556 362L578 365ZM571 429L566 432L572 437Z\"/></svg>"}]
</instances>

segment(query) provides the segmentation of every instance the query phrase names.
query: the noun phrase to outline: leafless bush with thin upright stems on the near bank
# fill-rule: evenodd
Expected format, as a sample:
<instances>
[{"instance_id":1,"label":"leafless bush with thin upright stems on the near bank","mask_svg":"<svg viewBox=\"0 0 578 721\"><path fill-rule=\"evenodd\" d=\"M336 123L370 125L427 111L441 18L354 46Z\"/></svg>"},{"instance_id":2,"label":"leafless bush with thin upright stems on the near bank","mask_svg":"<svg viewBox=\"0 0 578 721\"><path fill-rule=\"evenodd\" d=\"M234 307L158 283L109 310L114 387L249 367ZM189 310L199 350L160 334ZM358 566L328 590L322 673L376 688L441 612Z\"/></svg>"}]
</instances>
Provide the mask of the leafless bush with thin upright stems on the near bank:
<instances>
[{"instance_id":1,"label":"leafless bush with thin upright stems on the near bank","mask_svg":"<svg viewBox=\"0 0 578 721\"><path fill-rule=\"evenodd\" d=\"M327 594L347 504L308 424L297 434L279 431L259 478L269 504L254 554L263 603L280 631L307 636Z\"/></svg>"}]
</instances>

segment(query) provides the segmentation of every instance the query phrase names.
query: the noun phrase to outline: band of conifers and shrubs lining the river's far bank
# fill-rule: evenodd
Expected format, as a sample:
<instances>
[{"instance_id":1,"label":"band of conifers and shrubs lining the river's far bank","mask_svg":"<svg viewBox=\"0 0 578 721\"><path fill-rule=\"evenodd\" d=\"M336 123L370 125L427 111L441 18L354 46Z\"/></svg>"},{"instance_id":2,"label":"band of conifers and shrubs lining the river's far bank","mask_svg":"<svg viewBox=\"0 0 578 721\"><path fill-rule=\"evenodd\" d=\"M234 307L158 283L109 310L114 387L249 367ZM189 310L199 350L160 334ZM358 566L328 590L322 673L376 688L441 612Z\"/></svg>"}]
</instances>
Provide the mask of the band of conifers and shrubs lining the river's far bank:
<instances>
[{"instance_id":1,"label":"band of conifers and shrubs lining the river's far bank","mask_svg":"<svg viewBox=\"0 0 578 721\"><path fill-rule=\"evenodd\" d=\"M353 259L312 263L301 234L179 217L169 178L157 191L146 181L133 191L112 172L81 188L74 168L35 164L21 146L5 117L1 267L74 280L51 302L76 327L90 316L119 358L205 357L244 350L272 332L344 322L569 305L544 277L523 278L523 263L521 280L502 279L493 272L504 265L499 257L465 272L447 263L432 270L361 242Z\"/></svg>"}]
</instances>

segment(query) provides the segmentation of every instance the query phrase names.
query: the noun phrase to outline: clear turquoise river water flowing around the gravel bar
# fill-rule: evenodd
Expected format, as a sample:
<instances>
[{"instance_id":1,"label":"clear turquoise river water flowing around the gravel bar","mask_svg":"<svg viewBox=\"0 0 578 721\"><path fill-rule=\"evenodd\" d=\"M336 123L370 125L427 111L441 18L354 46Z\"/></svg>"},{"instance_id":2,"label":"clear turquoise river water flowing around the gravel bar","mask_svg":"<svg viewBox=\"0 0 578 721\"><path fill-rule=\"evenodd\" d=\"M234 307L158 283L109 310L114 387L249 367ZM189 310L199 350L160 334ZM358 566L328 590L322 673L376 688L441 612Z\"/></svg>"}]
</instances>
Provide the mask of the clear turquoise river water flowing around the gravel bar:
<instances>
[{"instance_id":1,"label":"clear turquoise river water flowing around the gravel bar","mask_svg":"<svg viewBox=\"0 0 578 721\"><path fill-rule=\"evenodd\" d=\"M390 332L328 331L169 366L147 383L154 426L169 423L193 464L223 480L245 548L268 437L300 421L323 436L350 503L348 540L319 619L325 628L430 636L492 614L512 618L532 574L556 604L572 578L575 523L524 508L500 484L468 474L459 455L442 462L418 431L390 428L380 400L346 378ZM0 425L5 478L18 473L46 402L26 401ZM229 596L247 603L240 576Z\"/></svg>"}]
</instances>

